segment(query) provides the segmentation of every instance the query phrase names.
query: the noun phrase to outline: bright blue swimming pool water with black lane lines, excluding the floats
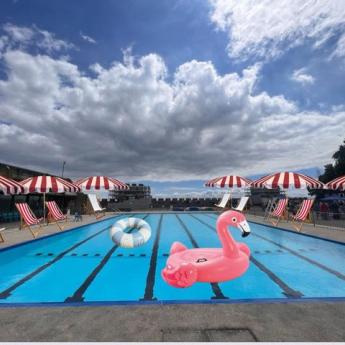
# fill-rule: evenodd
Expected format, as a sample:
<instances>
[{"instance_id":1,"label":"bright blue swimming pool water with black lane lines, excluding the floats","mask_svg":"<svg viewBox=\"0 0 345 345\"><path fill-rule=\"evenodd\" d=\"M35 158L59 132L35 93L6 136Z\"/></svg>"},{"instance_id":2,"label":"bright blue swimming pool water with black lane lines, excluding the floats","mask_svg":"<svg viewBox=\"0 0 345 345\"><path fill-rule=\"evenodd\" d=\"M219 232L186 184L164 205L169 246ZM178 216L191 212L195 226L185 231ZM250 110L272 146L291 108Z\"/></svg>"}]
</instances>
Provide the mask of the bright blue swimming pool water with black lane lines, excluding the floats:
<instances>
[{"instance_id":1,"label":"bright blue swimming pool water with black lane lines, excluding the floats","mask_svg":"<svg viewBox=\"0 0 345 345\"><path fill-rule=\"evenodd\" d=\"M224 283L167 285L161 270L174 241L220 247L215 213L131 215L152 228L141 247L117 247L109 228L120 215L0 251L0 305L62 303L229 303L345 298L345 245L250 223L242 238L248 271Z\"/></svg>"}]
</instances>

